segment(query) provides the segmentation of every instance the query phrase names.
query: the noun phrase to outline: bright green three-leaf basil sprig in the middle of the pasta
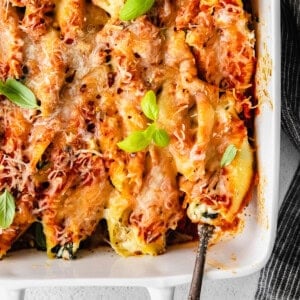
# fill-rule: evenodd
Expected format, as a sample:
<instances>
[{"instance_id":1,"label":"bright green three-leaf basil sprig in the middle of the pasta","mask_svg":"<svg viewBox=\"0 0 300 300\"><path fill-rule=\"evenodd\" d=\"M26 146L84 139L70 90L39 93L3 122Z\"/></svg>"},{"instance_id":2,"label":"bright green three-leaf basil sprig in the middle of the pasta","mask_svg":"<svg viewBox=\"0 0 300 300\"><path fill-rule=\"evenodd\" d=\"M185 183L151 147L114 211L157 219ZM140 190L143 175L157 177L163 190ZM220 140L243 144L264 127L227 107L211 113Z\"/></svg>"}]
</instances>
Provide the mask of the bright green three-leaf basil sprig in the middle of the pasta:
<instances>
[{"instance_id":1,"label":"bright green three-leaf basil sprig in the middle of the pasta","mask_svg":"<svg viewBox=\"0 0 300 300\"><path fill-rule=\"evenodd\" d=\"M148 91L145 94L141 102L141 107L145 116L152 120L153 123L145 130L134 131L117 144L119 148L129 153L145 149L152 141L159 147L166 147L170 143L168 133L156 125L159 108L156 102L156 95L153 91Z\"/></svg>"}]
</instances>

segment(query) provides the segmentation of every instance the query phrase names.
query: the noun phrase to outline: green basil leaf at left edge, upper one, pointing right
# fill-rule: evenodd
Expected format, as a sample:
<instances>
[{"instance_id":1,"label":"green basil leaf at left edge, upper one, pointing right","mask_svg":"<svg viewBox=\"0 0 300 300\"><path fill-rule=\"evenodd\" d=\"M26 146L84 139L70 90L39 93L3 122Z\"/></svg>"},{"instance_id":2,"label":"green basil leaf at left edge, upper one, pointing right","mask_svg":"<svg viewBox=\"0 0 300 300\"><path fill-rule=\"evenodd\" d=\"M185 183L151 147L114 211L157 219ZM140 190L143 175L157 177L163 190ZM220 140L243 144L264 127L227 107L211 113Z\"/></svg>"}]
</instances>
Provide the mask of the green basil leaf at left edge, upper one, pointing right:
<instances>
[{"instance_id":1,"label":"green basil leaf at left edge, upper one, pointing right","mask_svg":"<svg viewBox=\"0 0 300 300\"><path fill-rule=\"evenodd\" d=\"M35 109L39 107L33 92L15 79L8 78L5 83L0 81L0 94L22 108Z\"/></svg>"}]
</instances>

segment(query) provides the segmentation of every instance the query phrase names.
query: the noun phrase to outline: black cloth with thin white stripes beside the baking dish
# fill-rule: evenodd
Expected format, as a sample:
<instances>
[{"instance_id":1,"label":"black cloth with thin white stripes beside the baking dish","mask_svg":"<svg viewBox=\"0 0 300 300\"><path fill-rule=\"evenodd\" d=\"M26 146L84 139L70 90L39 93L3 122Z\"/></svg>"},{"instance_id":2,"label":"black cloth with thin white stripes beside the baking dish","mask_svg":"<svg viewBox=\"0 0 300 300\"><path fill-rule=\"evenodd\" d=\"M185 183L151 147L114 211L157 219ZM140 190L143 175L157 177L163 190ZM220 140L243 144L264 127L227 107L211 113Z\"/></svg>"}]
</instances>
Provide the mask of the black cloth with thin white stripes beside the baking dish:
<instances>
[{"instance_id":1,"label":"black cloth with thin white stripes beside the baking dish","mask_svg":"<svg viewBox=\"0 0 300 300\"><path fill-rule=\"evenodd\" d=\"M300 155L300 0L281 0L282 128ZM271 258L255 299L300 299L300 165L279 211Z\"/></svg>"}]
</instances>

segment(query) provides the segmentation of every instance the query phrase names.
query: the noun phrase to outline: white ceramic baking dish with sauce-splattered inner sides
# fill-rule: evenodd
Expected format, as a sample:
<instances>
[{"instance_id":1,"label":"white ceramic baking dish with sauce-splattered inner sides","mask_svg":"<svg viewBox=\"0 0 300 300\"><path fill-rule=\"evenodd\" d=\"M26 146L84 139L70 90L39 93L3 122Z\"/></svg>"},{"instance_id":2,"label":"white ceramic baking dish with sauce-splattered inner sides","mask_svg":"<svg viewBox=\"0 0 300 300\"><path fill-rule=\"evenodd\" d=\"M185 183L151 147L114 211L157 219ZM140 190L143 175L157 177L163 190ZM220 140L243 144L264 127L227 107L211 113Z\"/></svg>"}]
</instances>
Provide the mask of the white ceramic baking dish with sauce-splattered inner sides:
<instances>
[{"instance_id":1,"label":"white ceramic baking dish with sauce-splattered inner sides","mask_svg":"<svg viewBox=\"0 0 300 300\"><path fill-rule=\"evenodd\" d=\"M257 93L261 112L256 118L259 186L245 210L245 228L234 239L211 247L206 277L245 276L267 262L276 232L280 141L280 2L253 2L257 24ZM80 252L74 261L49 260L45 253L26 250L0 262L0 287L7 299L22 299L34 286L145 286L152 298L172 299L176 285L191 280L195 244L171 247L158 257L121 258L113 251ZM1 294L0 294L1 295ZM4 299L4 294L1 299Z\"/></svg>"}]
</instances>

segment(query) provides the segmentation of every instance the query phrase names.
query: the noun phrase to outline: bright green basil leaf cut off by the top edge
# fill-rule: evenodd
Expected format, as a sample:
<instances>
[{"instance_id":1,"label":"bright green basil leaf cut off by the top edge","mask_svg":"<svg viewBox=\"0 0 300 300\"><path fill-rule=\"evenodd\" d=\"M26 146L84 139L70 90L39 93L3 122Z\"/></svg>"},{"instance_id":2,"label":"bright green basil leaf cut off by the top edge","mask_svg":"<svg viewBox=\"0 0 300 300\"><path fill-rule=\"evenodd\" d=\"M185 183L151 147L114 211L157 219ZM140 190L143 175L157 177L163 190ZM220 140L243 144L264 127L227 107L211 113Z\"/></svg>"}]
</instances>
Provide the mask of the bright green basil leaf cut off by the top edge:
<instances>
[{"instance_id":1,"label":"bright green basil leaf cut off by the top edge","mask_svg":"<svg viewBox=\"0 0 300 300\"><path fill-rule=\"evenodd\" d=\"M151 9L155 0L127 0L120 11L122 21L133 20Z\"/></svg>"}]
</instances>

